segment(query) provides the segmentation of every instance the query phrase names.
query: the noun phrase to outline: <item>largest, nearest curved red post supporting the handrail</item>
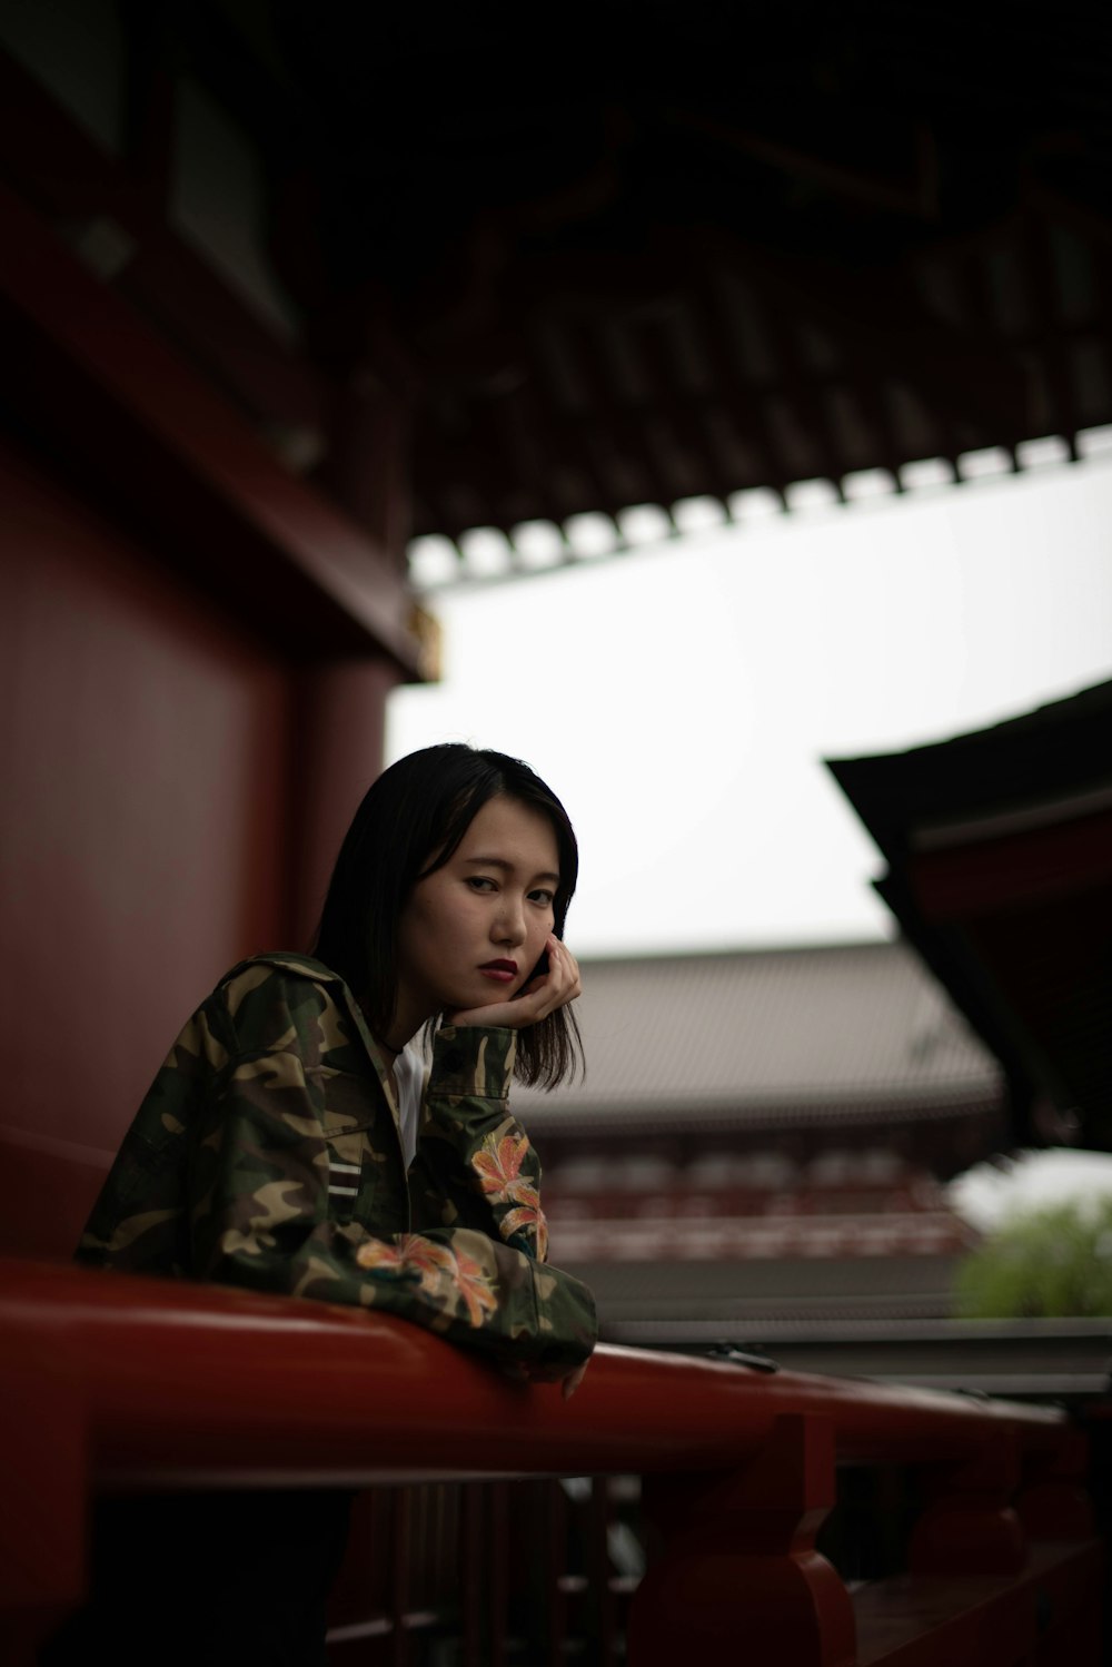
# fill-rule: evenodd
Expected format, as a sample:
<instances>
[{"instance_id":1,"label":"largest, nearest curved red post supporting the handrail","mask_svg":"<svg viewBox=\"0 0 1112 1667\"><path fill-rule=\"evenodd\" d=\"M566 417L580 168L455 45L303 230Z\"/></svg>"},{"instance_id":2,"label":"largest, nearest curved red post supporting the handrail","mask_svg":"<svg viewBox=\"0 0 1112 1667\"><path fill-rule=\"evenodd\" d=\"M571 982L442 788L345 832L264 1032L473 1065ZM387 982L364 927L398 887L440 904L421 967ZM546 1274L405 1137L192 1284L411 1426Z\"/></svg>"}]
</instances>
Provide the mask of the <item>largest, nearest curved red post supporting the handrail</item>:
<instances>
[{"instance_id":1,"label":"largest, nearest curved red post supporting the handrail","mask_svg":"<svg viewBox=\"0 0 1112 1667\"><path fill-rule=\"evenodd\" d=\"M674 1667L711 1649L722 1667L851 1667L849 1594L814 1549L832 1504L834 1430L822 1417L777 1417L756 1457L726 1477L646 1479L664 1552L633 1600L631 1667Z\"/></svg>"}]
</instances>

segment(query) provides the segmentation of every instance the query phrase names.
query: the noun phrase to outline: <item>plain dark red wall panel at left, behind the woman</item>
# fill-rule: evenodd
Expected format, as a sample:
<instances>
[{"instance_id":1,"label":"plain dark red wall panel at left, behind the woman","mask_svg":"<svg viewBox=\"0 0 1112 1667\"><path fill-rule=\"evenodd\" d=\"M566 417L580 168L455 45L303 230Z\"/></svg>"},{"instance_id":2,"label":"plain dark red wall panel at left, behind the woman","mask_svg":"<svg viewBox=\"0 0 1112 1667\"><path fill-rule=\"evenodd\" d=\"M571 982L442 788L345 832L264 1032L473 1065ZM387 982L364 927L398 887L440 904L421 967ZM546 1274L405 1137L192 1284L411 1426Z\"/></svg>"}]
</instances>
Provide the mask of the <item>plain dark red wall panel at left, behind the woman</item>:
<instances>
[{"instance_id":1,"label":"plain dark red wall panel at left, behind the woman","mask_svg":"<svg viewBox=\"0 0 1112 1667\"><path fill-rule=\"evenodd\" d=\"M296 942L318 747L276 650L7 438L0 502L0 1250L68 1255L198 1000ZM370 752L366 703L346 730ZM315 807L336 778L315 762Z\"/></svg>"}]
</instances>

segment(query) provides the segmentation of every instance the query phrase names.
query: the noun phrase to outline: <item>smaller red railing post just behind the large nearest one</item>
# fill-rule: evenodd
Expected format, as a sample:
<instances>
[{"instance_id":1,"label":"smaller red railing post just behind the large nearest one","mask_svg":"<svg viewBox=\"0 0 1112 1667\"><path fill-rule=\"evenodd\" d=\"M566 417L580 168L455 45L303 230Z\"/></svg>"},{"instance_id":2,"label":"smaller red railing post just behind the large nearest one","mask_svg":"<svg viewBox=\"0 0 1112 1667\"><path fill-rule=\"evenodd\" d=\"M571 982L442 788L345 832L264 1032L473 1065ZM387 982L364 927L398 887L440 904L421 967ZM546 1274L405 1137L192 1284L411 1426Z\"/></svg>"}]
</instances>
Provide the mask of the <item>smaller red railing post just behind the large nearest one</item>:
<instances>
[{"instance_id":1,"label":"smaller red railing post just behind the large nearest one","mask_svg":"<svg viewBox=\"0 0 1112 1667\"><path fill-rule=\"evenodd\" d=\"M994 1430L972 1459L927 1472L927 1509L909 1547L912 1574L1019 1574L1027 1537L1012 1507L1019 1487L1014 1430Z\"/></svg>"}]
</instances>

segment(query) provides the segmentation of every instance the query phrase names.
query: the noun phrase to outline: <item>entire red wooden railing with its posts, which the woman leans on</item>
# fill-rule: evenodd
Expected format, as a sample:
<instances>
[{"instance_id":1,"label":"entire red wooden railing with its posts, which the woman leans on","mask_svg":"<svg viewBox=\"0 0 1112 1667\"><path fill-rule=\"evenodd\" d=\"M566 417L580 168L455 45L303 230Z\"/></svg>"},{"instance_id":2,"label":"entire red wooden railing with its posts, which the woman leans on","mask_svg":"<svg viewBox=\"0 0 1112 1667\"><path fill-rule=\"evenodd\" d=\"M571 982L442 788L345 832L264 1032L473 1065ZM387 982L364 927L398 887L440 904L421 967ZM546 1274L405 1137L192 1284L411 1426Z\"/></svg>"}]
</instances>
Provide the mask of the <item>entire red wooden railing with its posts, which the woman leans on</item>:
<instances>
[{"instance_id":1,"label":"entire red wooden railing with its posts, which the woman leans on","mask_svg":"<svg viewBox=\"0 0 1112 1667\"><path fill-rule=\"evenodd\" d=\"M546 1475L644 1477L634 1667L1099 1659L1084 1440L1057 1410L608 1347L564 1404L373 1314L25 1262L0 1264L0 1382L13 1667L82 1599L92 1494ZM837 1464L922 1484L906 1572L852 1595L814 1550ZM496 1627L461 1630L461 1660L501 1659Z\"/></svg>"}]
</instances>

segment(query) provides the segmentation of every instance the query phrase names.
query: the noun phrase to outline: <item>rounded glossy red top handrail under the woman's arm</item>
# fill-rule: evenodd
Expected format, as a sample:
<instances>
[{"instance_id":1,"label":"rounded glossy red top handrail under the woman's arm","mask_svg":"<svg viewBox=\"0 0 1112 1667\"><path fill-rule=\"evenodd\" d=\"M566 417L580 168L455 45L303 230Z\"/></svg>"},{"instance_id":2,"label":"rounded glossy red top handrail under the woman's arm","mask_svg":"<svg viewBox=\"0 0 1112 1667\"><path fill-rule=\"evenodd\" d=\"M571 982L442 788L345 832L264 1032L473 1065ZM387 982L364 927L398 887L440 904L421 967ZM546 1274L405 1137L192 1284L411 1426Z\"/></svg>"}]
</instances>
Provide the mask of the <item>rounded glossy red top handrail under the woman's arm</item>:
<instances>
[{"instance_id":1,"label":"rounded glossy red top handrail under the woman's arm","mask_svg":"<svg viewBox=\"0 0 1112 1667\"><path fill-rule=\"evenodd\" d=\"M1057 1409L611 1345L564 1404L388 1315L18 1260L0 1262L0 1370L67 1399L112 1487L724 1470L792 1414L829 1420L839 1462L957 1462L989 1430L1052 1452L1065 1425Z\"/></svg>"}]
</instances>

